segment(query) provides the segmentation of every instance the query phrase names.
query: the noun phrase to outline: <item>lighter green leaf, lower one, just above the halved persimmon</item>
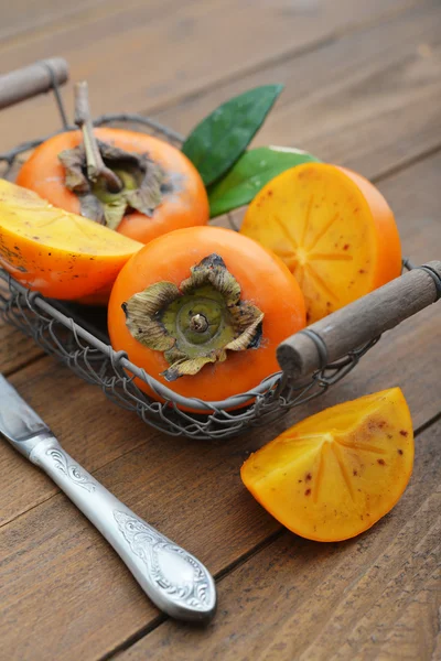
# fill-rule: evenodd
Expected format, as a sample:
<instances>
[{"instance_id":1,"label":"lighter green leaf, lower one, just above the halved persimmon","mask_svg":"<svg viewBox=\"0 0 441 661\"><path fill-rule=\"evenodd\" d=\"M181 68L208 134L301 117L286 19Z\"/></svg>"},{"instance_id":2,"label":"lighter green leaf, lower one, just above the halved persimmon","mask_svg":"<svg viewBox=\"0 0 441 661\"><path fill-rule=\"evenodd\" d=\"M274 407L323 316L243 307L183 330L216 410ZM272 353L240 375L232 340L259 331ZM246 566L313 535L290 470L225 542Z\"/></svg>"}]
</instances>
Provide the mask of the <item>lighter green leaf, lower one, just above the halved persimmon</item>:
<instances>
[{"instance_id":1,"label":"lighter green leaf, lower one, just above the halved persimmon","mask_svg":"<svg viewBox=\"0 0 441 661\"><path fill-rule=\"evenodd\" d=\"M208 188L211 217L248 204L275 176L300 165L319 161L312 154L286 147L258 147L246 152L223 180Z\"/></svg>"}]
</instances>

